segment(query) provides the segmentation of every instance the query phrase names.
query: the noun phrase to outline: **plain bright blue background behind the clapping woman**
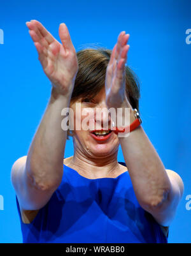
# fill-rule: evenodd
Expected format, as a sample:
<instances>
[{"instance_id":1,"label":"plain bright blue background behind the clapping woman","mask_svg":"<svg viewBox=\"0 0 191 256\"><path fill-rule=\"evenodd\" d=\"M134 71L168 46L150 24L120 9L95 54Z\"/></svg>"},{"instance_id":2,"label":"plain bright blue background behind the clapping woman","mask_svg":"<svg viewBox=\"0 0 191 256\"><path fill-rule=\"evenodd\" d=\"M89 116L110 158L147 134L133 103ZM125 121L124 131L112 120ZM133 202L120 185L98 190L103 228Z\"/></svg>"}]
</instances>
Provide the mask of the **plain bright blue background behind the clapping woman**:
<instances>
[{"instance_id":1,"label":"plain bright blue background behind the clapping woman","mask_svg":"<svg viewBox=\"0 0 191 256\"><path fill-rule=\"evenodd\" d=\"M128 64L141 82L143 128L166 169L175 170L185 192L169 231L169 243L190 243L190 59L191 1L1 1L1 176L0 242L21 243L22 234L10 181L13 162L27 154L50 97L50 82L38 61L25 22L37 19L59 40L65 22L76 50L87 43L112 49L118 33L131 34ZM65 157L73 154L67 141ZM123 161L122 151L118 160Z\"/></svg>"}]
</instances>

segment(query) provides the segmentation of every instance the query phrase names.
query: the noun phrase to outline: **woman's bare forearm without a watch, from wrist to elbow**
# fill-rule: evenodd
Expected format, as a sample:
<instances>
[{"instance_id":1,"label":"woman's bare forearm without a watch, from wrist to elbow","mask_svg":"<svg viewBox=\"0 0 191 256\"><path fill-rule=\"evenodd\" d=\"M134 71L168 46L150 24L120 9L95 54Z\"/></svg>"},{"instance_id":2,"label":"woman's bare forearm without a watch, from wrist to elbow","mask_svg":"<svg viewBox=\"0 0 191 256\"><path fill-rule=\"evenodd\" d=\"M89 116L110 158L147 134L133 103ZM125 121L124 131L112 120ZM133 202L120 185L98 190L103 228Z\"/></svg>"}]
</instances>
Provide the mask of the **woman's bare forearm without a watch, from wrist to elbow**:
<instances>
[{"instance_id":1,"label":"woman's bare forearm without a watch, from wrist to elbow","mask_svg":"<svg viewBox=\"0 0 191 256\"><path fill-rule=\"evenodd\" d=\"M69 107L69 96L53 93L32 139L25 172L36 187L56 187L62 179L67 132L61 128L61 110Z\"/></svg>"}]
</instances>

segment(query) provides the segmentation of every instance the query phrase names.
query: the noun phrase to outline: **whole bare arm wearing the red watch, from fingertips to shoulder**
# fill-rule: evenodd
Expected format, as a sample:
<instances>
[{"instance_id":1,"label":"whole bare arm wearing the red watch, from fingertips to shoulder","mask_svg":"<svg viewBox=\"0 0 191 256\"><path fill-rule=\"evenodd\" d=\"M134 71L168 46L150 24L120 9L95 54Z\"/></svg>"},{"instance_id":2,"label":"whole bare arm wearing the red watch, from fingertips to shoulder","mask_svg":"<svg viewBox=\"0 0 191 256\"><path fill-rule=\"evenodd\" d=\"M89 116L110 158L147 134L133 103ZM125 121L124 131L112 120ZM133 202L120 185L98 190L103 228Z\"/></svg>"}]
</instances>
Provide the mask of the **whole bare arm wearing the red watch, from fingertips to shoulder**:
<instances>
[{"instance_id":1,"label":"whole bare arm wearing the red watch, from fingertips to shoulder","mask_svg":"<svg viewBox=\"0 0 191 256\"><path fill-rule=\"evenodd\" d=\"M129 35L118 36L106 73L106 104L110 107L129 108L131 123L134 115L125 96L125 62ZM129 137L119 137L125 163L139 204L161 225L169 225L183 195L183 182L172 170L166 170L142 126Z\"/></svg>"}]
</instances>

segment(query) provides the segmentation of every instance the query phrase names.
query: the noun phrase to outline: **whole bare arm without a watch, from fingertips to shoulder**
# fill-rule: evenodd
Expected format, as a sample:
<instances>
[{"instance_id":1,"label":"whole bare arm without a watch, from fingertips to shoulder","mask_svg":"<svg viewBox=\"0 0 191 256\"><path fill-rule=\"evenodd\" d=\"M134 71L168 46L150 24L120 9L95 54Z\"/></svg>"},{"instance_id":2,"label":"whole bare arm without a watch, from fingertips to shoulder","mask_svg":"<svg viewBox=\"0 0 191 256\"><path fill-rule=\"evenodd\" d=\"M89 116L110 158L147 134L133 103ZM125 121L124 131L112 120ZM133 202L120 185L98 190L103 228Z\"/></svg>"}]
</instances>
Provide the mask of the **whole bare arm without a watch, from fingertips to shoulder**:
<instances>
[{"instance_id":1,"label":"whole bare arm without a watch, from fingertips to shoulder","mask_svg":"<svg viewBox=\"0 0 191 256\"><path fill-rule=\"evenodd\" d=\"M11 181L20 207L35 210L45 206L62 179L67 132L61 128L61 110L69 107L78 61L65 24L59 27L62 44L38 21L27 26L52 92L27 156L12 167Z\"/></svg>"}]
</instances>

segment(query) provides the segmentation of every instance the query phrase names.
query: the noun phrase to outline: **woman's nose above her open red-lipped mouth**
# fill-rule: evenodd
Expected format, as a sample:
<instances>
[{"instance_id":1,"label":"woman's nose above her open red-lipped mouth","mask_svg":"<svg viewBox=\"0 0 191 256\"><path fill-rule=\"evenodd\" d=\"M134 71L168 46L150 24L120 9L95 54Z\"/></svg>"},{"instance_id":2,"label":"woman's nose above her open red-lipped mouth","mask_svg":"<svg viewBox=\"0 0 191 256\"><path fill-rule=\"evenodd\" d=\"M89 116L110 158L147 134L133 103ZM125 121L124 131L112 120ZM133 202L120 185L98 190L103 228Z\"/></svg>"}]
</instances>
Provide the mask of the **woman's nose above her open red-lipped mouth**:
<instances>
[{"instance_id":1,"label":"woman's nose above her open red-lipped mouth","mask_svg":"<svg viewBox=\"0 0 191 256\"><path fill-rule=\"evenodd\" d=\"M109 130L111 127L111 114L105 101L97 105L94 109L95 130Z\"/></svg>"}]
</instances>

